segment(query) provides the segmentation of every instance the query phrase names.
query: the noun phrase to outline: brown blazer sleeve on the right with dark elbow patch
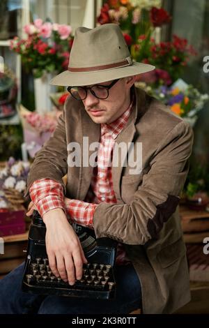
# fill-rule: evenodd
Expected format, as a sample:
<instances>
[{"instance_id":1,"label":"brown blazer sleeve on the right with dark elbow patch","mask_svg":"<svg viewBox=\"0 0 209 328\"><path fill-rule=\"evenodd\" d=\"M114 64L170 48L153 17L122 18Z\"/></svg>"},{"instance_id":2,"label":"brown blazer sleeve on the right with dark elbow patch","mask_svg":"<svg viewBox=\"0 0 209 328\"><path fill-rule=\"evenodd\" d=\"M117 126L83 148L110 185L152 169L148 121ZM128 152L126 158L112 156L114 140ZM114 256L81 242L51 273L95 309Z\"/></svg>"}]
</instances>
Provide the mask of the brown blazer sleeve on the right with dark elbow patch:
<instances>
[{"instance_id":1,"label":"brown blazer sleeve on the right with dark elbow patch","mask_svg":"<svg viewBox=\"0 0 209 328\"><path fill-rule=\"evenodd\" d=\"M158 145L150 170L130 204L101 203L96 207L93 226L96 237L110 237L125 244L145 244L156 239L176 211L192 152L193 131L180 121Z\"/></svg>"}]
</instances>

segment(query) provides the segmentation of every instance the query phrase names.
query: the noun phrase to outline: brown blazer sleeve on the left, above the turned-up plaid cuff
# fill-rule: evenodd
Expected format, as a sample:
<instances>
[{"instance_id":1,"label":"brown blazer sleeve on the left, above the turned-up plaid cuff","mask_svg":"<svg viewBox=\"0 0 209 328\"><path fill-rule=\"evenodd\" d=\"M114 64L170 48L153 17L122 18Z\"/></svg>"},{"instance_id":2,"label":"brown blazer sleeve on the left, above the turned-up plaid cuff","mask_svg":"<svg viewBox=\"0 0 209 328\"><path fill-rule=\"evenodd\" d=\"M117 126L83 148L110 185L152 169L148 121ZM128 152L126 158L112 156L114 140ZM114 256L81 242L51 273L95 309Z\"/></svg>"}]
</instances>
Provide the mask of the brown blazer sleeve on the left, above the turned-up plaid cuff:
<instances>
[{"instance_id":1,"label":"brown blazer sleeve on the left, above the turned-up plaid cuff","mask_svg":"<svg viewBox=\"0 0 209 328\"><path fill-rule=\"evenodd\" d=\"M36 153L27 179L26 193L24 196L29 195L29 188L33 182L40 179L53 179L59 182L65 191L65 184L63 183L62 177L67 172L67 156L64 109L59 117L54 133L45 142L40 151Z\"/></svg>"}]
</instances>

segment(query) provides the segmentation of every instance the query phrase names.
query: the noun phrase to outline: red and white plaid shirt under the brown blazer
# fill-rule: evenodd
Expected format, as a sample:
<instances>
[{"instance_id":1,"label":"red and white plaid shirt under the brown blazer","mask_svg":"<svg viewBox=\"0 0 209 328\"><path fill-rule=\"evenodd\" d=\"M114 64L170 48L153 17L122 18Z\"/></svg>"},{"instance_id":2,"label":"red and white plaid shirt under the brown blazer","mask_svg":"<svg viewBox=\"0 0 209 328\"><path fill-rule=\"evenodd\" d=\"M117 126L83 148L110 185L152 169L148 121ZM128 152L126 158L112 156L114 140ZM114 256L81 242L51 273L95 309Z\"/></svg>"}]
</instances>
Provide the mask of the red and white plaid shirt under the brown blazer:
<instances>
[{"instance_id":1,"label":"red and white plaid shirt under the brown blazer","mask_svg":"<svg viewBox=\"0 0 209 328\"><path fill-rule=\"evenodd\" d=\"M111 124L101 124L98 166L93 168L91 186L84 201L68 198L64 200L61 184L52 179L40 179L33 182L29 193L41 216L50 209L61 208L69 216L70 221L92 228L95 207L100 202L112 204L117 202L111 177L111 157L115 139L130 117L132 103L116 121ZM122 248L119 251L120 248L121 244L118 246L118 263L125 261L125 253Z\"/></svg>"}]
</instances>

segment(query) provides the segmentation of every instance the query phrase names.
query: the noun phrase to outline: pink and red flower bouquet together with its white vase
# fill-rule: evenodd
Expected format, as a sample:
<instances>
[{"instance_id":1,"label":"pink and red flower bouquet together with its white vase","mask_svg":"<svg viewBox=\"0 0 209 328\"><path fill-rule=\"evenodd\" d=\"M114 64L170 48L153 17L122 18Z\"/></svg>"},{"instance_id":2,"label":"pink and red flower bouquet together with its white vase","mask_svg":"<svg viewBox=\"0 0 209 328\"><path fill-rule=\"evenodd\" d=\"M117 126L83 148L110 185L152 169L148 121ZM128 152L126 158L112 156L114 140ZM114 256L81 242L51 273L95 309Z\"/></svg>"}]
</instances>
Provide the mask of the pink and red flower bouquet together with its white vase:
<instances>
[{"instance_id":1,"label":"pink and red flower bouquet together with its white vase","mask_svg":"<svg viewBox=\"0 0 209 328\"><path fill-rule=\"evenodd\" d=\"M10 50L20 54L26 72L33 72L36 111L52 110L49 94L56 87L49 84L55 74L68 68L73 37L72 28L40 19L24 27L27 38L13 38Z\"/></svg>"}]
</instances>

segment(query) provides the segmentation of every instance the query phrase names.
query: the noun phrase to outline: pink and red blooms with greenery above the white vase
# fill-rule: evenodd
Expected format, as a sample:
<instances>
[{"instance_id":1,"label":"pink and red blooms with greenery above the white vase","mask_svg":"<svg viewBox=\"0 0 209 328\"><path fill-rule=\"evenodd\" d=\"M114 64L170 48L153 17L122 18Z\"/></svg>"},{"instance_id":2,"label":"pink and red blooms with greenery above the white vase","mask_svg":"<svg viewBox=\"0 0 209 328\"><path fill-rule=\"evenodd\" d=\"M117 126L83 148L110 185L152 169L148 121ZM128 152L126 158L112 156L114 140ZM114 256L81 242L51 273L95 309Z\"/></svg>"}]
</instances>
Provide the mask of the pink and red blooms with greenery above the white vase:
<instances>
[{"instance_id":1,"label":"pink and red blooms with greenery above the white vase","mask_svg":"<svg viewBox=\"0 0 209 328\"><path fill-rule=\"evenodd\" d=\"M45 72L61 72L68 67L72 47L72 28L69 25L52 24L40 19L24 27L26 39L13 38L10 50L22 57L22 64L34 77L41 77Z\"/></svg>"}]
</instances>

